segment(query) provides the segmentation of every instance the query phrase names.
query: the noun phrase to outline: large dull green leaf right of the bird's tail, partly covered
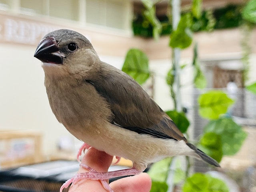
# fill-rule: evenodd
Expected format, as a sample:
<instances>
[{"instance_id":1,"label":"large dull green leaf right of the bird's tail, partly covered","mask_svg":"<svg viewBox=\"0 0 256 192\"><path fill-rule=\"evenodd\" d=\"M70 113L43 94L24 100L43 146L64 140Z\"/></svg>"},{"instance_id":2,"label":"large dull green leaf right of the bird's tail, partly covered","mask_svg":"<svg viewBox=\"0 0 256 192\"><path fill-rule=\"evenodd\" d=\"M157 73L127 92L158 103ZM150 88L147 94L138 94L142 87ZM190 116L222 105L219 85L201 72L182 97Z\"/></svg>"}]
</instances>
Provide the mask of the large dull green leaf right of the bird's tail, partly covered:
<instances>
[{"instance_id":1,"label":"large dull green leaf right of the bird's tail, partly covered","mask_svg":"<svg viewBox=\"0 0 256 192\"><path fill-rule=\"evenodd\" d=\"M241 126L227 117L210 121L204 128L204 133L209 132L221 137L223 155L236 154L247 136Z\"/></svg>"}]
</instances>

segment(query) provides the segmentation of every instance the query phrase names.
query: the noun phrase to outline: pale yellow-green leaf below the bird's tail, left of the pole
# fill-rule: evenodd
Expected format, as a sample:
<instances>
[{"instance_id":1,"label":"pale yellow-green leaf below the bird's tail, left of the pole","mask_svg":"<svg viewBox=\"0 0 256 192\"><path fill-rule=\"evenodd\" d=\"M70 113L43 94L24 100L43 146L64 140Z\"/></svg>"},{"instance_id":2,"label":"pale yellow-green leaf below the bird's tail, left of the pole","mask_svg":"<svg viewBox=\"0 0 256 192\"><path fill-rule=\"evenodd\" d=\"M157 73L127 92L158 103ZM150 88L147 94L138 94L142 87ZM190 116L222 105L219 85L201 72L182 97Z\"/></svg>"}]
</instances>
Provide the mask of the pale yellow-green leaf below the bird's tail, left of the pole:
<instances>
[{"instance_id":1,"label":"pale yellow-green leaf below the bird's tail, left of the pole","mask_svg":"<svg viewBox=\"0 0 256 192\"><path fill-rule=\"evenodd\" d=\"M172 159L172 157L168 157L152 164L152 166L147 172L151 179L158 182L166 182L166 178L168 177L169 174Z\"/></svg>"}]
</instances>

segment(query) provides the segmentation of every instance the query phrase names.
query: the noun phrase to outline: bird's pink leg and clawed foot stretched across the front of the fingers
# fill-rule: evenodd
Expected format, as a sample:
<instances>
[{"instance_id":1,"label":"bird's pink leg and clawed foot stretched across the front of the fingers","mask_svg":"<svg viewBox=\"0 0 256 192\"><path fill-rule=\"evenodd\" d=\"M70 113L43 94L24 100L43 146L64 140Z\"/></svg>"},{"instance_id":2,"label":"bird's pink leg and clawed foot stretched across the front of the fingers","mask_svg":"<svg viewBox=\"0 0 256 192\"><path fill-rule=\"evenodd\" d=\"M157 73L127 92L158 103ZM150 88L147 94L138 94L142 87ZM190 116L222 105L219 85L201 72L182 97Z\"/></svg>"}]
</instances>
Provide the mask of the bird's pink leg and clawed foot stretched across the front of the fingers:
<instances>
[{"instance_id":1,"label":"bird's pink leg and clawed foot stretched across the front of the fingers","mask_svg":"<svg viewBox=\"0 0 256 192\"><path fill-rule=\"evenodd\" d=\"M79 180L82 179L90 179L90 180L100 180L102 183L102 186L108 191L113 192L113 190L108 185L107 180L114 177L121 177L121 176L128 176L128 175L136 175L140 174L142 171L136 170L136 168L128 168L123 170L117 170L117 171L110 171L110 172L96 172L94 169L90 168L89 166L85 164L80 164L84 169L87 169L89 172L85 173L78 173L71 179L67 180L60 188L60 192L64 188L67 188L71 183L72 185L76 184Z\"/></svg>"}]
</instances>

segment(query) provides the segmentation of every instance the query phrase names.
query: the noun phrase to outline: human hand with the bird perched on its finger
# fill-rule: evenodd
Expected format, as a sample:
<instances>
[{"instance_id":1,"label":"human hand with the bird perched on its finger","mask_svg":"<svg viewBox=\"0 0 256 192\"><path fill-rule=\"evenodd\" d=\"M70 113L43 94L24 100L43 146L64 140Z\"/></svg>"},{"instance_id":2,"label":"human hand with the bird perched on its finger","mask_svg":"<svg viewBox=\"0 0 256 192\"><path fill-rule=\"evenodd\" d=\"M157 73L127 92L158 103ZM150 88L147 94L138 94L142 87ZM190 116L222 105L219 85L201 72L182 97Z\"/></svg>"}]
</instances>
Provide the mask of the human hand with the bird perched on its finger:
<instances>
[{"instance_id":1,"label":"human hand with the bird perched on its finger","mask_svg":"<svg viewBox=\"0 0 256 192\"><path fill-rule=\"evenodd\" d=\"M93 168L97 172L107 172L113 157L105 152L90 148L82 159L82 164ZM88 172L80 166L78 173ZM110 183L114 192L149 192L151 179L146 173L122 178ZM72 185L68 192L107 192L99 180L79 180Z\"/></svg>"}]
</instances>

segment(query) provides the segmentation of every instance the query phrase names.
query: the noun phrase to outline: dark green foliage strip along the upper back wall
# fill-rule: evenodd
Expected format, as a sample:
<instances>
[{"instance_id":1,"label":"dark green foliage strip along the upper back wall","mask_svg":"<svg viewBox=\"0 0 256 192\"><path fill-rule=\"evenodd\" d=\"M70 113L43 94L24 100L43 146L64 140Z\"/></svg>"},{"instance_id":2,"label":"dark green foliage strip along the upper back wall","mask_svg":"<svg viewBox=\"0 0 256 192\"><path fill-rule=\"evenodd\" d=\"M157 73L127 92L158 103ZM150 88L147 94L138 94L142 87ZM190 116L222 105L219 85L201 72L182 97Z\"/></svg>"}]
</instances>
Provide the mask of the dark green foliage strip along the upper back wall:
<instances>
[{"instance_id":1,"label":"dark green foliage strip along the upper back wall","mask_svg":"<svg viewBox=\"0 0 256 192\"><path fill-rule=\"evenodd\" d=\"M192 17L192 27L193 32L198 31L212 31L214 29L226 29L235 28L243 25L243 18L241 14L241 9L244 5L228 5L224 8L218 8L214 10L203 10L200 17ZM157 8L157 7L156 7ZM184 10L184 14L192 12L191 10ZM172 33L172 23L170 22L170 15L166 13L164 16L158 17L159 23L162 26L162 32L160 35L169 35ZM142 13L134 16L132 21L132 29L135 36L142 37L153 37L154 27L152 26L152 21Z\"/></svg>"}]
</instances>

